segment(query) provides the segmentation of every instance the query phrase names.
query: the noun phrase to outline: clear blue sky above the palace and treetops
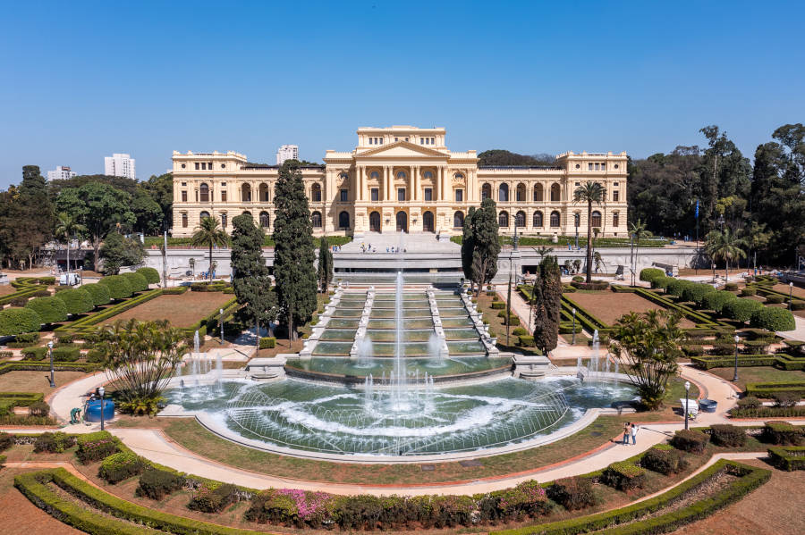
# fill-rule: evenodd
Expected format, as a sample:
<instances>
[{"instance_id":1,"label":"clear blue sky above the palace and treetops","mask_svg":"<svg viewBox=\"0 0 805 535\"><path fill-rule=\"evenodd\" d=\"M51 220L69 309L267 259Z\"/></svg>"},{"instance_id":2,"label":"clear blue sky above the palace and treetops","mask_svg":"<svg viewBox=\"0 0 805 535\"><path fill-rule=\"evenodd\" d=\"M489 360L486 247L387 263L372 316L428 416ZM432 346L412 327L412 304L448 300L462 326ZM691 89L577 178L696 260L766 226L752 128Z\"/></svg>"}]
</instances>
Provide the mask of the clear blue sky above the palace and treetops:
<instances>
[{"instance_id":1,"label":"clear blue sky above the palace and treetops","mask_svg":"<svg viewBox=\"0 0 805 535\"><path fill-rule=\"evenodd\" d=\"M320 161L360 126L453 150L752 155L805 121L802 2L6 2L0 188L21 166L138 178L175 150Z\"/></svg>"}]
</instances>

